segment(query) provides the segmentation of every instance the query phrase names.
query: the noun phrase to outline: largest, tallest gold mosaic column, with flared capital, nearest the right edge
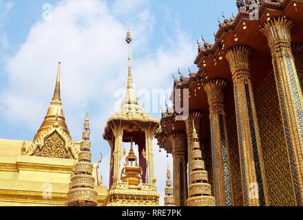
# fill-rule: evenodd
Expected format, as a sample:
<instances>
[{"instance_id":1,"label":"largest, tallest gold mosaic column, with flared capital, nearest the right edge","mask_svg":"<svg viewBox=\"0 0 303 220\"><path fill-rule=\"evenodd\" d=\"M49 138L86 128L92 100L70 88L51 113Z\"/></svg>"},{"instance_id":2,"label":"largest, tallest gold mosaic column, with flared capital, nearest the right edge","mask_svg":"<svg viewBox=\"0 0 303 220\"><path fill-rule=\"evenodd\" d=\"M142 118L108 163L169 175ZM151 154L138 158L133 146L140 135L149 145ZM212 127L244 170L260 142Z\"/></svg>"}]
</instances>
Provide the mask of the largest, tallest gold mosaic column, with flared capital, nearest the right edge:
<instances>
[{"instance_id":1,"label":"largest, tallest gold mosaic column, with flared capital, nearest the right edge","mask_svg":"<svg viewBox=\"0 0 303 220\"><path fill-rule=\"evenodd\" d=\"M278 89L284 133L289 148L289 158L297 205L303 197L303 97L291 48L291 20L273 18L264 24L262 32L267 36L275 83Z\"/></svg>"}]
</instances>

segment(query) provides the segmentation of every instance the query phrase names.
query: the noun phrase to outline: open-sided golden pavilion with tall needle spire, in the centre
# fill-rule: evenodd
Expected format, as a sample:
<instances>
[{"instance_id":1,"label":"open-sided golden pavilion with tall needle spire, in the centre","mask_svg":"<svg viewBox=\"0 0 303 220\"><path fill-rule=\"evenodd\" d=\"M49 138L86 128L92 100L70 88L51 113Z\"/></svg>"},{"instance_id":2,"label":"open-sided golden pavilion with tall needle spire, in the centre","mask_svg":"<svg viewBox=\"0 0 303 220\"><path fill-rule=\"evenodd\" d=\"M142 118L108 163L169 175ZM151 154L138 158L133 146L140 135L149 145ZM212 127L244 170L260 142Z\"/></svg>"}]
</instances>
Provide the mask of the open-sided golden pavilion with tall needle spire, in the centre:
<instances>
[{"instance_id":1,"label":"open-sided golden pavilion with tall needle spire, in the centre","mask_svg":"<svg viewBox=\"0 0 303 220\"><path fill-rule=\"evenodd\" d=\"M154 153L152 141L158 129L158 120L151 118L143 111L138 102L134 87L132 85L132 70L130 67L129 43L132 41L130 33L127 32L126 42L128 44L128 76L127 91L121 109L107 120L103 137L109 142L111 148L111 160L109 168L109 198L108 206L158 206L160 195L157 192L154 177ZM138 145L138 166L125 166L121 177L120 163L123 154L123 142L132 142ZM129 155L132 158L132 154ZM138 176L136 181L129 184L129 175L134 172L138 174L142 169L139 186Z\"/></svg>"}]
</instances>

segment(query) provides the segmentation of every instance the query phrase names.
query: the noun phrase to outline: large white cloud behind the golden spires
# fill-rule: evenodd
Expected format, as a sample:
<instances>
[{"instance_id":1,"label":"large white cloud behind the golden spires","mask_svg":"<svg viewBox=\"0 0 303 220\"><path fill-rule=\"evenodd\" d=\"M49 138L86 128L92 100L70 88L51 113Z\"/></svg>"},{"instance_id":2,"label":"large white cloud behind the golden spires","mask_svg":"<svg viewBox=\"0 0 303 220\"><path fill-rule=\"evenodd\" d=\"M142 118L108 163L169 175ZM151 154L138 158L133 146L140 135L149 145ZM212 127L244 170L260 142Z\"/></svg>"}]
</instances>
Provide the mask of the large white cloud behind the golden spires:
<instances>
[{"instance_id":1,"label":"large white cloud behind the golden spires","mask_svg":"<svg viewBox=\"0 0 303 220\"><path fill-rule=\"evenodd\" d=\"M148 36L154 25L154 15L147 8L136 16L132 52L140 56L132 59L133 78L138 88L168 89L172 86L172 72L179 66L191 65L196 50L185 34L178 31L169 37L169 46L162 45L153 50L156 52L149 52L145 46L150 44ZM83 115L90 107L92 140L99 142L107 118L114 113L114 91L126 84L127 28L104 1L66 0L54 5L52 19L35 23L20 50L6 63L8 85L0 93L2 120L31 129L34 135L52 96L56 63L61 61L61 97L73 139L81 137ZM93 144L92 151L96 157L100 151L105 155L101 175L107 185L109 146L104 144L101 147ZM166 179L163 164L166 165L167 159L165 153L158 153L156 143L154 151L157 186L163 195Z\"/></svg>"}]
</instances>

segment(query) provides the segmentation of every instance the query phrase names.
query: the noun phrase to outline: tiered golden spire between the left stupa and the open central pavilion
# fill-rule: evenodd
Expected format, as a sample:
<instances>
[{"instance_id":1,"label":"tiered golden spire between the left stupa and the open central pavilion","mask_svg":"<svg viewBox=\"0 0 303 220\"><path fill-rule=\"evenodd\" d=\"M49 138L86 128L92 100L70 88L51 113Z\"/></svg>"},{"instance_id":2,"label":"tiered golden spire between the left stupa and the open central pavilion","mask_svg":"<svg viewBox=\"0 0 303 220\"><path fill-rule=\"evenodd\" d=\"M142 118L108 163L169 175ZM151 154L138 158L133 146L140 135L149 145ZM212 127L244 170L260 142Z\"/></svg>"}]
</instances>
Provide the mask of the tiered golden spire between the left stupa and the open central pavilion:
<instances>
[{"instance_id":1,"label":"tiered golden spire between the left stupa and the open central pavilion","mask_svg":"<svg viewBox=\"0 0 303 220\"><path fill-rule=\"evenodd\" d=\"M96 206L98 192L94 190L95 179L92 176L93 164L90 152L90 121L88 113L85 115L84 131L79 162L75 165L74 175L71 178L70 190L67 192L67 206Z\"/></svg>"}]
</instances>

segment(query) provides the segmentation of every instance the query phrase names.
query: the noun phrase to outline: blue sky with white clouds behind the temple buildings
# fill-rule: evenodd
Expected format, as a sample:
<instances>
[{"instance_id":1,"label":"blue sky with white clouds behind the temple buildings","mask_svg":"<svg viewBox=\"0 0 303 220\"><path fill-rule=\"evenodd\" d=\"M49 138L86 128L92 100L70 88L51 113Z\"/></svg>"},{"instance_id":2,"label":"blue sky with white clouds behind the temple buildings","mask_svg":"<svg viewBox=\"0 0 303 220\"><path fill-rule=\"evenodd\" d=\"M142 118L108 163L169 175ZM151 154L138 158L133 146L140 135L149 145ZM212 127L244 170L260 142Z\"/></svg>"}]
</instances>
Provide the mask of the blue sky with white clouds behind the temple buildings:
<instances>
[{"instance_id":1,"label":"blue sky with white clouds behind the temple buildings","mask_svg":"<svg viewBox=\"0 0 303 220\"><path fill-rule=\"evenodd\" d=\"M170 89L178 67L185 74L189 66L196 69L196 39L203 34L213 41L222 11L227 17L236 14L236 0L0 0L0 138L32 140L61 61L67 126L73 140L80 140L89 110L93 160L103 153L107 185L109 146L101 135L119 102L114 95L126 85L127 28L136 89ZM151 115L160 118L160 109ZM166 155L156 144L154 151L163 194Z\"/></svg>"}]
</instances>

